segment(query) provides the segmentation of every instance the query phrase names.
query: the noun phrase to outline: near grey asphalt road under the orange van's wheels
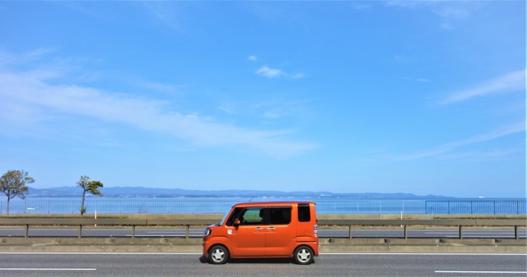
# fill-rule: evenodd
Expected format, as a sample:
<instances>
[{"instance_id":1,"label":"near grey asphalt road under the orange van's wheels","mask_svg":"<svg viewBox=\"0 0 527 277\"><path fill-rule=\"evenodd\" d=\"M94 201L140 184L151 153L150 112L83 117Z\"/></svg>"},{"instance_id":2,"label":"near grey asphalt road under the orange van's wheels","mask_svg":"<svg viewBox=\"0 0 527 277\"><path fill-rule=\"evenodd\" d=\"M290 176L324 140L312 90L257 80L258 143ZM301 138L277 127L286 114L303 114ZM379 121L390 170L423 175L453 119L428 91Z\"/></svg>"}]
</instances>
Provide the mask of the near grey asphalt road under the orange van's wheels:
<instances>
[{"instance_id":1,"label":"near grey asphalt road under the orange van's wheels","mask_svg":"<svg viewBox=\"0 0 527 277\"><path fill-rule=\"evenodd\" d=\"M221 266L200 254L1 253L0 276L526 276L527 254L320 254L233 259Z\"/></svg>"}]
</instances>

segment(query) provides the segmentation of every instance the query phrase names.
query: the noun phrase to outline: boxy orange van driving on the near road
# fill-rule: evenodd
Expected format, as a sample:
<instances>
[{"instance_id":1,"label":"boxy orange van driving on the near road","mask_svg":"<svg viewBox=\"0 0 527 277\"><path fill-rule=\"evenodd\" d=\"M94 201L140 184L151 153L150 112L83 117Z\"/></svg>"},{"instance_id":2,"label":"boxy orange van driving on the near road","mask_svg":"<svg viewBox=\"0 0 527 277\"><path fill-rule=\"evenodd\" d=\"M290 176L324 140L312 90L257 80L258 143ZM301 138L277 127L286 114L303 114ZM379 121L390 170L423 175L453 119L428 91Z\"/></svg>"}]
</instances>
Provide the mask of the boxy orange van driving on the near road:
<instances>
[{"instance_id":1,"label":"boxy orange van driving on the near road","mask_svg":"<svg viewBox=\"0 0 527 277\"><path fill-rule=\"evenodd\" d=\"M318 226L313 202L239 203L204 230L203 257L213 264L229 258L291 257L309 264L314 256Z\"/></svg>"}]
</instances>

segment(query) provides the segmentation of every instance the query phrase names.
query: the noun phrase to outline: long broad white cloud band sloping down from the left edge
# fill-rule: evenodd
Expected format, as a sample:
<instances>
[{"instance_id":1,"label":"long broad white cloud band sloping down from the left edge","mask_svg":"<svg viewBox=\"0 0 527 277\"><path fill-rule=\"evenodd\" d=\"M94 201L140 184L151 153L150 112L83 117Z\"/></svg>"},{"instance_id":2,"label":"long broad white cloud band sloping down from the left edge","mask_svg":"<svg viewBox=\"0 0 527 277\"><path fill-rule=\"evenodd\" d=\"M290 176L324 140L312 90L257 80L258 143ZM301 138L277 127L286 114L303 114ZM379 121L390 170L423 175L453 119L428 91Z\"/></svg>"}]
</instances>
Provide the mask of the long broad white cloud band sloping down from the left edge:
<instances>
[{"instance_id":1,"label":"long broad white cloud band sloping down from the left edge","mask_svg":"<svg viewBox=\"0 0 527 277\"><path fill-rule=\"evenodd\" d=\"M78 85L56 85L48 82L61 73L0 71L0 110L10 107L10 117L0 113L4 124L16 118L40 120L50 115L83 115L109 122L124 123L141 130L164 132L196 145L238 145L277 158L301 155L317 148L310 142L286 139L292 130L251 130L214 122L210 117L167 113L167 101L110 93ZM21 108L16 108L20 106ZM53 120L51 118L50 120Z\"/></svg>"}]
</instances>

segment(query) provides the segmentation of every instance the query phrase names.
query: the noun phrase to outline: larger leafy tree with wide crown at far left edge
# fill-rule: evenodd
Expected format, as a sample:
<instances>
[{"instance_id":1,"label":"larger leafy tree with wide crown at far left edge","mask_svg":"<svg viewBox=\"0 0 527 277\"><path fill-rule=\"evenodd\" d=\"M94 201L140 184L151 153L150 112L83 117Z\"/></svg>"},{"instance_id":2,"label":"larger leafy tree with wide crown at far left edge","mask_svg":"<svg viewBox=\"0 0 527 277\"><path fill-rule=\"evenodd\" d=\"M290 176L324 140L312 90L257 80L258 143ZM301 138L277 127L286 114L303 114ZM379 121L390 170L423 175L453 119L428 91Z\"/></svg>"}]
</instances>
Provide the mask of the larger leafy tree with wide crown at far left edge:
<instances>
[{"instance_id":1,"label":"larger leafy tree with wide crown at far left edge","mask_svg":"<svg viewBox=\"0 0 527 277\"><path fill-rule=\"evenodd\" d=\"M29 189L26 184L34 182L35 179L29 177L28 172L24 172L24 170L8 170L6 174L0 177L0 192L7 197L7 214L9 214L9 200L14 197L26 199Z\"/></svg>"}]
</instances>

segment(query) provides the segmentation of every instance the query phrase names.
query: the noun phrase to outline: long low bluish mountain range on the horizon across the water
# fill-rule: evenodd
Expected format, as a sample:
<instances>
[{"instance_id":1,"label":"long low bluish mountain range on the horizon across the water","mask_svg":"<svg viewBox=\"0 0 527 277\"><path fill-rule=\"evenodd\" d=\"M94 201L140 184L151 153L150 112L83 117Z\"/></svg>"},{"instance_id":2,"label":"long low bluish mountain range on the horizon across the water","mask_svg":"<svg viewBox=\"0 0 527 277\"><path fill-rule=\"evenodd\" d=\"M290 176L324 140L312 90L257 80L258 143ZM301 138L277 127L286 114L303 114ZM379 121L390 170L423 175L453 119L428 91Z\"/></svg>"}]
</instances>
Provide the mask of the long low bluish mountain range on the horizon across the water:
<instances>
[{"instance_id":1,"label":"long low bluish mountain range on the horizon across the water","mask_svg":"<svg viewBox=\"0 0 527 277\"><path fill-rule=\"evenodd\" d=\"M159 189L149 187L103 187L100 189L105 197L313 197L313 198L352 198L352 199L447 199L442 195L418 196L408 193L333 193L333 192L279 192L246 189L227 190L195 190L195 189ZM80 187L51 187L49 189L35 189L30 187L28 197L81 197ZM87 194L87 197L93 195Z\"/></svg>"}]
</instances>

